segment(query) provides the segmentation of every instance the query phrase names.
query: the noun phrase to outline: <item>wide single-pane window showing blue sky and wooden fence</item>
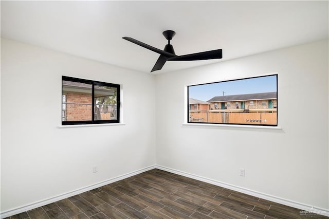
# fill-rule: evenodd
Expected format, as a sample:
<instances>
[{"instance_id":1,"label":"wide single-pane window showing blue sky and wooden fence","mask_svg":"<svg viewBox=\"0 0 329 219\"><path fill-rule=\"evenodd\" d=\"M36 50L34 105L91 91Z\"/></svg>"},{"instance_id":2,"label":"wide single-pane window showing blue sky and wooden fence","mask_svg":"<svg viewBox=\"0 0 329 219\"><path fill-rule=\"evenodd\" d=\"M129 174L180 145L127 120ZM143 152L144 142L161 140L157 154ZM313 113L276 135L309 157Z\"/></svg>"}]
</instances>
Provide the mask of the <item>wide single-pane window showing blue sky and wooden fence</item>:
<instances>
[{"instance_id":1,"label":"wide single-pane window showing blue sky and wooden fence","mask_svg":"<svg viewBox=\"0 0 329 219\"><path fill-rule=\"evenodd\" d=\"M198 118L190 119L193 115L188 107L187 120L189 123L277 126L277 81L278 75L268 75L190 85L188 100L198 99L214 108L200 109Z\"/></svg>"}]
</instances>

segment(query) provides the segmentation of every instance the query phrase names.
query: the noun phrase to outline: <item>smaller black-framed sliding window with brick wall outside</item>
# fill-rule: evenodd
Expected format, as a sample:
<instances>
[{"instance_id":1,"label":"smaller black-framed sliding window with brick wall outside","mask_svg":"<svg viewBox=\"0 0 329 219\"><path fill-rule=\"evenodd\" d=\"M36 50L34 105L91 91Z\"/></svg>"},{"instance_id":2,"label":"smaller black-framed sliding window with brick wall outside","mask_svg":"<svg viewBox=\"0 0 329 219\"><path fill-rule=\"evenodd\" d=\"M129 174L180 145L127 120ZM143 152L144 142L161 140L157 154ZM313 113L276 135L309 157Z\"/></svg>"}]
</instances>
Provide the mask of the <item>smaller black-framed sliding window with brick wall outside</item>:
<instances>
[{"instance_id":1,"label":"smaller black-framed sliding window with brick wall outside","mask_svg":"<svg viewBox=\"0 0 329 219\"><path fill-rule=\"evenodd\" d=\"M62 76L62 125L118 123L120 85Z\"/></svg>"}]
</instances>

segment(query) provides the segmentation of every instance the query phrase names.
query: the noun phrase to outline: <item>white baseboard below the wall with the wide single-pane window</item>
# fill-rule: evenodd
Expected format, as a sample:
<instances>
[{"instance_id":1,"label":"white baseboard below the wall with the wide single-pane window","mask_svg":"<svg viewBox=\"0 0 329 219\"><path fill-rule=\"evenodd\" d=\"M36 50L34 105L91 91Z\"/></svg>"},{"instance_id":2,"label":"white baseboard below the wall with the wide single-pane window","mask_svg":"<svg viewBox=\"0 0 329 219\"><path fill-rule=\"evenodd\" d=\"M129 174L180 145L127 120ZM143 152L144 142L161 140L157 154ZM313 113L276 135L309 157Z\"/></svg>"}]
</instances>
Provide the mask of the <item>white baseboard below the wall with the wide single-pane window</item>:
<instances>
[{"instance_id":1,"label":"white baseboard below the wall with the wide single-pane window","mask_svg":"<svg viewBox=\"0 0 329 219\"><path fill-rule=\"evenodd\" d=\"M268 194L265 194L265 193L262 193L262 192L257 192L257 191L242 188L242 187L239 187L239 186L230 185L230 184L227 184L225 182L217 181L217 180L214 180L214 179L209 179L209 178L206 178L206 177L203 177L203 176L198 176L198 175L195 175L195 174L175 170L175 169L168 168L168 167L163 167L163 166L160 166L160 165L156 165L155 168L163 170L163 171L167 171L167 172L170 172L170 173L175 173L175 174L178 174L178 175L186 176L186 177L189 177L189 178L192 178L192 179L197 179L197 180L200 180L200 181L208 182L209 184L212 184L212 185L215 185L215 186L221 186L221 187L231 189L231 190L234 190L234 191L237 191L237 192L242 192L242 193L245 193L245 194L248 194L248 195L263 198L263 199L269 200L271 202L276 202L276 203L279 203L279 204L282 204L282 205L298 208L298 209L303 210L304 212L301 212L301 213L306 214L306 215L316 213L316 214L321 214L321 215L324 215L324 216L329 216L329 209L323 209L323 208L319 208L319 207L315 207L315 206L310 206L310 205L298 203L298 202L295 202L293 200L288 200L288 199L285 199L285 198L280 198L280 197L276 197L276 196L273 196L273 195L268 195Z\"/></svg>"}]
</instances>

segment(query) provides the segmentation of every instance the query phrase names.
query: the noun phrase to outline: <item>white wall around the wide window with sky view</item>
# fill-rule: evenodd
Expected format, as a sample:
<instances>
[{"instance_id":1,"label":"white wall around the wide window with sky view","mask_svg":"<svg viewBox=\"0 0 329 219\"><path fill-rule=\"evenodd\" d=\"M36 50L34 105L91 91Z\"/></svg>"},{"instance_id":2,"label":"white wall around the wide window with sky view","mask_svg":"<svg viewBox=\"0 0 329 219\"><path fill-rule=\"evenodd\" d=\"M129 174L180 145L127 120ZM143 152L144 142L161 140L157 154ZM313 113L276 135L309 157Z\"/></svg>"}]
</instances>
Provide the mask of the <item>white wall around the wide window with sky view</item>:
<instances>
[{"instance_id":1,"label":"white wall around the wide window with sky view","mask_svg":"<svg viewBox=\"0 0 329 219\"><path fill-rule=\"evenodd\" d=\"M182 126L185 85L273 72L281 130ZM327 41L158 75L156 99L157 165L329 209Z\"/></svg>"}]
</instances>

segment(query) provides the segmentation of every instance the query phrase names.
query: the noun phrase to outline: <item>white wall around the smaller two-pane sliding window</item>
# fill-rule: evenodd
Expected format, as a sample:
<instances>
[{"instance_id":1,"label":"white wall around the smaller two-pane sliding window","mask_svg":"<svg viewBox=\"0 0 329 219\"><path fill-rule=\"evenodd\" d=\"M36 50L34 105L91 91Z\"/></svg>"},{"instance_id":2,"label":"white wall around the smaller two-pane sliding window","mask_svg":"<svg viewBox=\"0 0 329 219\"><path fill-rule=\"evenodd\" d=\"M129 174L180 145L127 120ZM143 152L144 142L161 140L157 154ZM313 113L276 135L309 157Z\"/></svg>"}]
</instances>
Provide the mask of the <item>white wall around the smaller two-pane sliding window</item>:
<instances>
[{"instance_id":1,"label":"white wall around the smaller two-pane sliding window","mask_svg":"<svg viewBox=\"0 0 329 219\"><path fill-rule=\"evenodd\" d=\"M1 212L155 165L154 76L5 39L1 68ZM126 125L58 129L63 75L122 84Z\"/></svg>"}]
</instances>

